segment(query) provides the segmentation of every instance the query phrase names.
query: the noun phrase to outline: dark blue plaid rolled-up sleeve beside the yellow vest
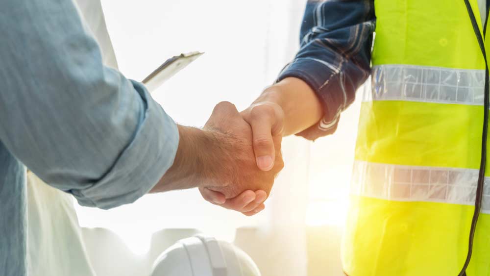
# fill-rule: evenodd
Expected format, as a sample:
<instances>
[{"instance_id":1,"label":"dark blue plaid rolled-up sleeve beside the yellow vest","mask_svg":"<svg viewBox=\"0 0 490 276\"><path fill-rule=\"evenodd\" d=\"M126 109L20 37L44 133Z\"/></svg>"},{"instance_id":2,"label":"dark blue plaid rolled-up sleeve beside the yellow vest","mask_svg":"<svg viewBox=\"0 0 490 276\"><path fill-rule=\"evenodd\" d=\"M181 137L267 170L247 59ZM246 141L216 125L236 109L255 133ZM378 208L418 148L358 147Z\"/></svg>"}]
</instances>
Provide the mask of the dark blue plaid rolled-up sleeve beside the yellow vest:
<instances>
[{"instance_id":1,"label":"dark blue plaid rolled-up sleeve beside the yellow vest","mask_svg":"<svg viewBox=\"0 0 490 276\"><path fill-rule=\"evenodd\" d=\"M324 117L299 136L314 140L335 132L341 112L369 76L374 25L373 0L307 2L301 48L278 77L304 80L322 104Z\"/></svg>"}]
</instances>

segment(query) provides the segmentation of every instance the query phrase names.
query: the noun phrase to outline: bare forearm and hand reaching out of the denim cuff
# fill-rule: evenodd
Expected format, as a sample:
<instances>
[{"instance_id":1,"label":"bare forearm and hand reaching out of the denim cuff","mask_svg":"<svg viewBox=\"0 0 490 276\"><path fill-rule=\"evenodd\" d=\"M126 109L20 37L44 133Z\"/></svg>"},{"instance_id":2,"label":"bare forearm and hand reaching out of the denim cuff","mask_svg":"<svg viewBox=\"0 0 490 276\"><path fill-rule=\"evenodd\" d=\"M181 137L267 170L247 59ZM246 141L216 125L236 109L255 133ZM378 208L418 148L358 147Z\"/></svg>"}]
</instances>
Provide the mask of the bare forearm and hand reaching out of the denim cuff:
<instances>
[{"instance_id":1,"label":"bare forearm and hand reaching out of the denim cuff","mask_svg":"<svg viewBox=\"0 0 490 276\"><path fill-rule=\"evenodd\" d=\"M274 177L283 168L280 144L269 171L260 170L252 129L229 102L216 105L203 130L179 126L174 164L152 192L199 187L204 199L253 215L264 208Z\"/></svg>"}]
</instances>

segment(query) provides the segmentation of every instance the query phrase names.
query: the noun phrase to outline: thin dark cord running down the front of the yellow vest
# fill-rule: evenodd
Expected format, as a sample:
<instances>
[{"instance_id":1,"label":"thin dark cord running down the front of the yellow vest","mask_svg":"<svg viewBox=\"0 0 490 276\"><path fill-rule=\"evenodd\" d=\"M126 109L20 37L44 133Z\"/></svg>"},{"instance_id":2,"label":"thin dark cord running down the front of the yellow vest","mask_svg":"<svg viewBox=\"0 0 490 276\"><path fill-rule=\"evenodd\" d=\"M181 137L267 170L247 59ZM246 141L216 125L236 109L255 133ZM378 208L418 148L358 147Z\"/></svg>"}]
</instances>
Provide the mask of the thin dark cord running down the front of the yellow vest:
<instances>
[{"instance_id":1,"label":"thin dark cord running down the front of the yellow vest","mask_svg":"<svg viewBox=\"0 0 490 276\"><path fill-rule=\"evenodd\" d=\"M483 184L485 181L485 166L487 162L487 137L488 137L488 120L489 120L489 66L487 61L487 52L485 50L484 37L487 31L488 22L488 11L487 17L483 29L483 37L478 28L478 24L475 18L475 14L471 9L471 5L468 0L464 0L466 4L466 9L468 10L468 15L471 20L471 25L473 26L473 31L475 32L476 38L478 40L478 45L482 51L483 57L485 58L485 100L483 104L483 131L482 131L482 151L481 151L481 161L480 161L480 171L478 174L478 186L476 188L476 199L475 199L475 211L473 213L473 219L471 220L471 228L469 231L469 242L468 242L468 254L466 255L466 261L461 269L458 276L466 276L466 268L468 267L469 261L471 260L471 253L473 252L473 238L475 236L476 224L478 222L478 217L480 215L480 209L482 206L482 196L483 196Z\"/></svg>"}]
</instances>

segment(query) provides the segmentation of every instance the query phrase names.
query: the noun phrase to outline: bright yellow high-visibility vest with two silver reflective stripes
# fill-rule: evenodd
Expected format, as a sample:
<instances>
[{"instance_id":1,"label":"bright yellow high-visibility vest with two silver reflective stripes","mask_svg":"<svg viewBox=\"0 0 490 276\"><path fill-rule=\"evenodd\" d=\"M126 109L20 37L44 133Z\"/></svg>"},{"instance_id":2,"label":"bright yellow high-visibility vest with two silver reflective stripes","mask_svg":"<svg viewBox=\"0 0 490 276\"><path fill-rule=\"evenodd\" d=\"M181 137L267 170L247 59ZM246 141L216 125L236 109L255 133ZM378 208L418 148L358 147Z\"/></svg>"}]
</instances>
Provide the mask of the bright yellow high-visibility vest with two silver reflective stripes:
<instances>
[{"instance_id":1,"label":"bright yellow high-visibility vest with two silver reflective stripes","mask_svg":"<svg viewBox=\"0 0 490 276\"><path fill-rule=\"evenodd\" d=\"M342 243L348 276L457 276L465 263L486 78L478 3L468 4L375 0L372 89ZM489 180L467 276L490 276Z\"/></svg>"}]
</instances>

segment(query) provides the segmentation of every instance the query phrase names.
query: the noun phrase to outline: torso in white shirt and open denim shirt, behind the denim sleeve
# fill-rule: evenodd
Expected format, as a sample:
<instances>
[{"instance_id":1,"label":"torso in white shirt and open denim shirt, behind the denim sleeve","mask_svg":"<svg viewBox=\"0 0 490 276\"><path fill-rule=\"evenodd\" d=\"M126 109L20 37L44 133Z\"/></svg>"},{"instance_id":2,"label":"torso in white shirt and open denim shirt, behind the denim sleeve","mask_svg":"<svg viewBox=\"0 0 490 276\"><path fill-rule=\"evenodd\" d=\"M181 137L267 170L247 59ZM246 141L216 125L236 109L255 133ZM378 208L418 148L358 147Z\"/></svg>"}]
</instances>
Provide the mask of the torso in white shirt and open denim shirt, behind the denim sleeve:
<instances>
[{"instance_id":1,"label":"torso in white shirt and open denim shirt, behind the denim sleeve","mask_svg":"<svg viewBox=\"0 0 490 276\"><path fill-rule=\"evenodd\" d=\"M117 69L100 1L74 3L100 45L104 64ZM0 275L95 275L71 197L32 173L28 178L26 186L25 166L0 141Z\"/></svg>"}]
</instances>

